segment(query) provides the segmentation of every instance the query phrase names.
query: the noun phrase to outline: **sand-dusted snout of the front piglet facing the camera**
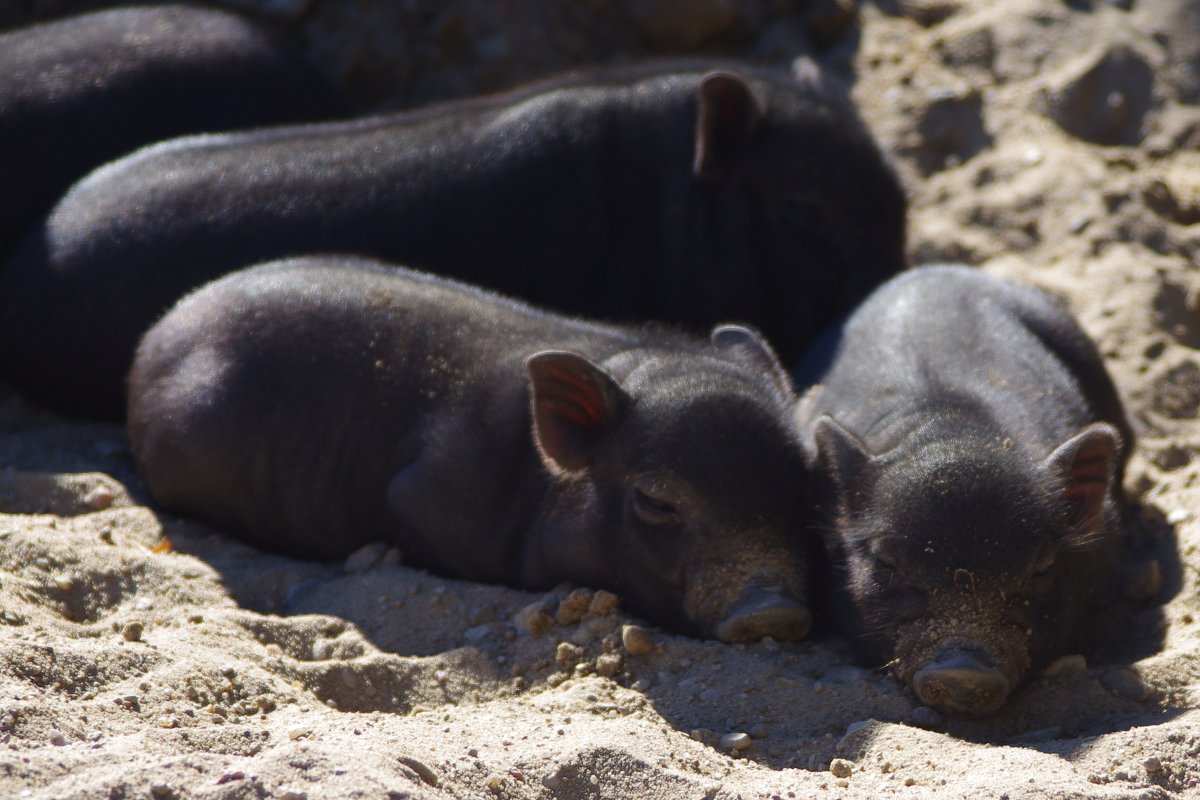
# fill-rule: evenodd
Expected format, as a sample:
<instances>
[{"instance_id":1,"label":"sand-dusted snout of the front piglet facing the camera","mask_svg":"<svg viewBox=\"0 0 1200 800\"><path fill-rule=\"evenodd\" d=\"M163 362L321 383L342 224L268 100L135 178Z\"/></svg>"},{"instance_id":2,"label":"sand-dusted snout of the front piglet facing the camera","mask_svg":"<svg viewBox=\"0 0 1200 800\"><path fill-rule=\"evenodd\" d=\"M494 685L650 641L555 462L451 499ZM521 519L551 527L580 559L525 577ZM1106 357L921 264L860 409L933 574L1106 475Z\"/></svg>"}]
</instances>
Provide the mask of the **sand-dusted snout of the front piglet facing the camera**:
<instances>
[{"instance_id":1,"label":"sand-dusted snout of the front piglet facing the camera","mask_svg":"<svg viewBox=\"0 0 1200 800\"><path fill-rule=\"evenodd\" d=\"M902 626L892 662L922 703L960 717L998 711L1028 667L1024 630L953 615Z\"/></svg>"}]
</instances>

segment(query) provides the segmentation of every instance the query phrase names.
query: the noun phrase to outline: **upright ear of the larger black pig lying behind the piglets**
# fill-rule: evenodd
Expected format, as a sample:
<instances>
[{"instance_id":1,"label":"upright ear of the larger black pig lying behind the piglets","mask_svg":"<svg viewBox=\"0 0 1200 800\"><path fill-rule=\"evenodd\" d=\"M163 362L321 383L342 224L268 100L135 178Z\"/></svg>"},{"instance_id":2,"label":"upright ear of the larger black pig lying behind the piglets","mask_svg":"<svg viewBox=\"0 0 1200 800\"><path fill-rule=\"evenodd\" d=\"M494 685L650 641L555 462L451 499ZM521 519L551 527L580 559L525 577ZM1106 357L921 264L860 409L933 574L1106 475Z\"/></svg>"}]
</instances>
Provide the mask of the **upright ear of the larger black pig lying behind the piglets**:
<instances>
[{"instance_id":1,"label":"upright ear of the larger black pig lying behind the piglets","mask_svg":"<svg viewBox=\"0 0 1200 800\"><path fill-rule=\"evenodd\" d=\"M709 72L700 79L696 92L691 172L701 180L719 182L744 152L764 112L746 79L732 72Z\"/></svg>"}]
</instances>

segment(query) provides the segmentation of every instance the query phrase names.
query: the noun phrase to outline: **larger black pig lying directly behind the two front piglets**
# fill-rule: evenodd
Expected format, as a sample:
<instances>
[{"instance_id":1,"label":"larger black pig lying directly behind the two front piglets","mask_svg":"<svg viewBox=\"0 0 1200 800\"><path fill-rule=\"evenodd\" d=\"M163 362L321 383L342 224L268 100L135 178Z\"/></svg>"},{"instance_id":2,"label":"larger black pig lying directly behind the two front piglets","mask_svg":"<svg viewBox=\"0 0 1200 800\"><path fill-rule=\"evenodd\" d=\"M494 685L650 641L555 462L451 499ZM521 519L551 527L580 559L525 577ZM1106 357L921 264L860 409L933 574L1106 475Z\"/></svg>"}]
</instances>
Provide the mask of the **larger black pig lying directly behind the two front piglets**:
<instances>
[{"instance_id":1,"label":"larger black pig lying directly behind the two front piglets","mask_svg":"<svg viewBox=\"0 0 1200 800\"><path fill-rule=\"evenodd\" d=\"M742 67L186 138L77 184L0 271L0 375L119 416L138 337L185 291L323 252L601 318L749 319L791 359L900 269L904 210L842 97Z\"/></svg>"}]
</instances>

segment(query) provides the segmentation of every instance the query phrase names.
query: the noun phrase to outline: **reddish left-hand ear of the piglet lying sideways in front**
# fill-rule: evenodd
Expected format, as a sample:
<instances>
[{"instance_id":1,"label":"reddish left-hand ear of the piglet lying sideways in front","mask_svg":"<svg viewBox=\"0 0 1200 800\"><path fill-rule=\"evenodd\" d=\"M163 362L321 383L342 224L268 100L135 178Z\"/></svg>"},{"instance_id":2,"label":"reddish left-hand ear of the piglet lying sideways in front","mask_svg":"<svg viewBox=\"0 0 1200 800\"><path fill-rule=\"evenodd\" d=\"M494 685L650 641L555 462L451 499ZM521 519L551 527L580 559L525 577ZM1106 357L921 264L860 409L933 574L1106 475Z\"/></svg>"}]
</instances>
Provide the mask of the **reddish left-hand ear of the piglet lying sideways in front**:
<instances>
[{"instance_id":1,"label":"reddish left-hand ear of the piglet lying sideways in front","mask_svg":"<svg viewBox=\"0 0 1200 800\"><path fill-rule=\"evenodd\" d=\"M566 470L590 467L625 405L608 373L577 353L544 350L526 361L534 438Z\"/></svg>"}]
</instances>

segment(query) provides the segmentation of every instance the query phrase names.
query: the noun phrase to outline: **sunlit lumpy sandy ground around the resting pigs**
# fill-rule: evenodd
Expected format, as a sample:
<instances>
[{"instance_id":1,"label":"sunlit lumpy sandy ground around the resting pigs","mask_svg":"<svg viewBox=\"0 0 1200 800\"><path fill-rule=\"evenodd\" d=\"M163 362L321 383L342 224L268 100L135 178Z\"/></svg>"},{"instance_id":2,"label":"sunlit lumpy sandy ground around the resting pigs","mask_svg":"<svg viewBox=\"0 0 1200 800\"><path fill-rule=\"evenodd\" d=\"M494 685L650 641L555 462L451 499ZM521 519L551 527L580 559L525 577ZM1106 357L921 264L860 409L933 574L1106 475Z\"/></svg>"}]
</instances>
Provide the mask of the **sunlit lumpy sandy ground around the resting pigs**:
<instances>
[{"instance_id":1,"label":"sunlit lumpy sandy ground around the resting pigs","mask_svg":"<svg viewBox=\"0 0 1200 800\"><path fill-rule=\"evenodd\" d=\"M1200 12L860 22L821 59L898 160L913 263L1063 296L1138 427L1086 658L953 721L836 639L630 630L604 594L382 547L265 555L148 507L120 428L0 390L0 798L1200 798Z\"/></svg>"}]
</instances>

